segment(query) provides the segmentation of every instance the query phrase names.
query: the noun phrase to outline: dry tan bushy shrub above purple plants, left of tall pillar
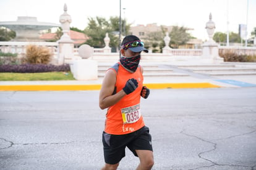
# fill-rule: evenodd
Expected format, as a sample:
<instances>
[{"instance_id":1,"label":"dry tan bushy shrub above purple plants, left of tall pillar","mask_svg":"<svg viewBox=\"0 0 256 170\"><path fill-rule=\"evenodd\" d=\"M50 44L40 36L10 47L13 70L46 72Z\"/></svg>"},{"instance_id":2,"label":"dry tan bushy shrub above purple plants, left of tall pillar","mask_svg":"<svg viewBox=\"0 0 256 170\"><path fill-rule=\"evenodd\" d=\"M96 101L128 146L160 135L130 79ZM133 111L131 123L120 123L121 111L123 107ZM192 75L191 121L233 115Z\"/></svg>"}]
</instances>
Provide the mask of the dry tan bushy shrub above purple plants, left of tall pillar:
<instances>
[{"instance_id":1,"label":"dry tan bushy shrub above purple plants, left of tall pillar","mask_svg":"<svg viewBox=\"0 0 256 170\"><path fill-rule=\"evenodd\" d=\"M29 64L49 64L53 54L45 46L28 45L25 62Z\"/></svg>"}]
</instances>

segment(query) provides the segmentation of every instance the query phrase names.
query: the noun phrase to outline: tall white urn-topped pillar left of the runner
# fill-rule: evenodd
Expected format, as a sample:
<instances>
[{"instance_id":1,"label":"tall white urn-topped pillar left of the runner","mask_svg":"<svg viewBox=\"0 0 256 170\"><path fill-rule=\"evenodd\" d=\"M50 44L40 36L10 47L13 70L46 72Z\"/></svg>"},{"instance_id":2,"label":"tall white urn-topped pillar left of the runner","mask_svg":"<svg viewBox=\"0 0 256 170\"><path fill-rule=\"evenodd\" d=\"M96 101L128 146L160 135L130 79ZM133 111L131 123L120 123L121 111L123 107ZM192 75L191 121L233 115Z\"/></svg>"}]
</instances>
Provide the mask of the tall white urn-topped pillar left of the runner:
<instances>
[{"instance_id":1,"label":"tall white urn-topped pillar left of the runner","mask_svg":"<svg viewBox=\"0 0 256 170\"><path fill-rule=\"evenodd\" d=\"M74 58L74 44L73 40L69 36L69 26L72 19L69 14L67 14L67 5L64 5L64 13L59 17L59 22L61 23L63 35L58 41L59 43L59 64L70 64Z\"/></svg>"}]
</instances>

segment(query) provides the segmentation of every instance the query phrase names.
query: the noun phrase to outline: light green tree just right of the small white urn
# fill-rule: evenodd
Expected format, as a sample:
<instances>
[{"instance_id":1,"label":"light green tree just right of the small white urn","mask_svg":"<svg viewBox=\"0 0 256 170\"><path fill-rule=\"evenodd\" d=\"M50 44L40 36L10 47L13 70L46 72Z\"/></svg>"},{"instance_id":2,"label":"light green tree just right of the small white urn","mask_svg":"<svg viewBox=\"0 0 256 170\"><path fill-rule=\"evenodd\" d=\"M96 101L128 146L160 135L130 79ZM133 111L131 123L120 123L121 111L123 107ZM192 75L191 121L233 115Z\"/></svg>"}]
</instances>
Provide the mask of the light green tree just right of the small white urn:
<instances>
[{"instance_id":1,"label":"light green tree just right of the small white urn","mask_svg":"<svg viewBox=\"0 0 256 170\"><path fill-rule=\"evenodd\" d=\"M170 45L173 48L179 48L179 45L185 45L190 39L190 34L186 31L188 28L174 26L169 36L171 37Z\"/></svg>"}]
</instances>

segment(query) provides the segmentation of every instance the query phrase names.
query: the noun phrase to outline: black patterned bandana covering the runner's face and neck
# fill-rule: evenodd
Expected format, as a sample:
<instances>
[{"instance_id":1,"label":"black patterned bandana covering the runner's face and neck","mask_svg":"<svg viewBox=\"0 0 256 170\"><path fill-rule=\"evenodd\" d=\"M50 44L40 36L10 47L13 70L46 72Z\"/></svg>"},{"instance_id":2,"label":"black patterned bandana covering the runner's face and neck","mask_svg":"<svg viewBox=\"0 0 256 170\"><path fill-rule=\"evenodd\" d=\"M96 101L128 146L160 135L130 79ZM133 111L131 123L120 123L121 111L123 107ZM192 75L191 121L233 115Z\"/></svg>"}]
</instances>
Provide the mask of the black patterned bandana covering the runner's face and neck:
<instances>
[{"instance_id":1,"label":"black patterned bandana covering the runner's face and neck","mask_svg":"<svg viewBox=\"0 0 256 170\"><path fill-rule=\"evenodd\" d=\"M139 66L140 54L134 57L121 56L120 62L127 70L130 70L130 72L135 72Z\"/></svg>"}]
</instances>

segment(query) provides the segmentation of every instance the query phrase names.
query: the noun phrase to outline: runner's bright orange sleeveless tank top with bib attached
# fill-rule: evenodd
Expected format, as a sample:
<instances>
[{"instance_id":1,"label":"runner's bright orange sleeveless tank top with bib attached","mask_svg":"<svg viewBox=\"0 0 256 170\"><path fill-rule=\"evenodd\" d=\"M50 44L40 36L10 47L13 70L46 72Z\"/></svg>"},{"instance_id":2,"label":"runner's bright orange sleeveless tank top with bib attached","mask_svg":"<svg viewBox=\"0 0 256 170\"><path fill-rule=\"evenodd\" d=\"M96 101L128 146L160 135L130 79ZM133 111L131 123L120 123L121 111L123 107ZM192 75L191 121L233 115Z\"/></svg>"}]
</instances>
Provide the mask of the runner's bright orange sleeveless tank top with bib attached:
<instances>
[{"instance_id":1,"label":"runner's bright orange sleeveless tank top with bib attached","mask_svg":"<svg viewBox=\"0 0 256 170\"><path fill-rule=\"evenodd\" d=\"M122 90L129 79L134 78L138 82L138 88L129 95L124 96L113 106L110 106L106 113L106 133L113 135L129 134L145 125L140 113L140 91L143 86L143 75L140 71L140 66L134 73L130 73L119 62L110 69L116 72L114 93Z\"/></svg>"}]
</instances>

